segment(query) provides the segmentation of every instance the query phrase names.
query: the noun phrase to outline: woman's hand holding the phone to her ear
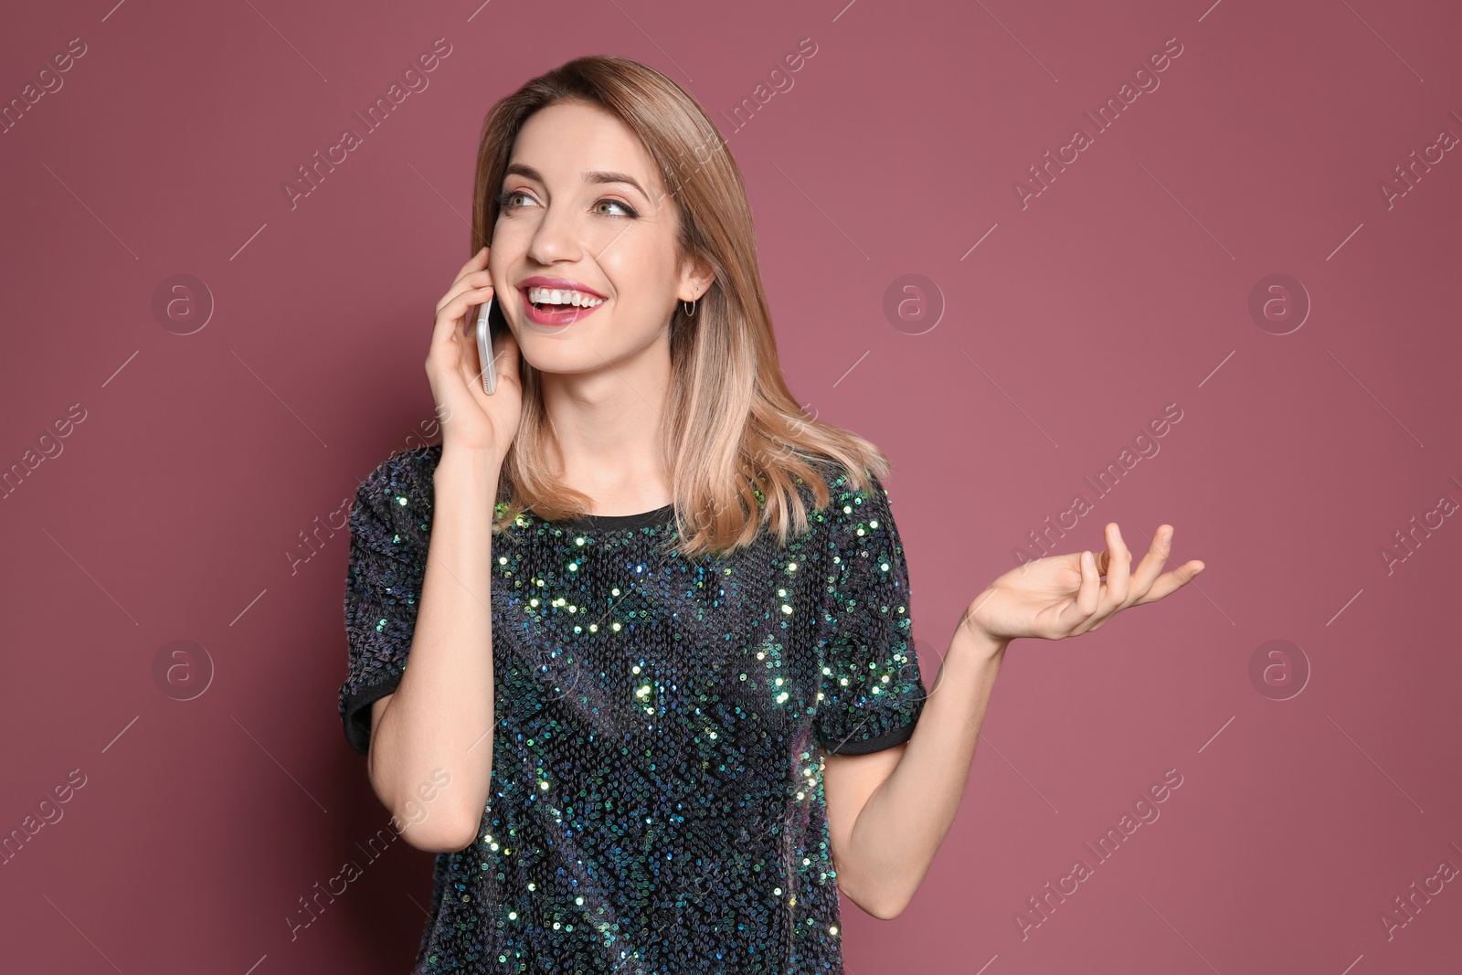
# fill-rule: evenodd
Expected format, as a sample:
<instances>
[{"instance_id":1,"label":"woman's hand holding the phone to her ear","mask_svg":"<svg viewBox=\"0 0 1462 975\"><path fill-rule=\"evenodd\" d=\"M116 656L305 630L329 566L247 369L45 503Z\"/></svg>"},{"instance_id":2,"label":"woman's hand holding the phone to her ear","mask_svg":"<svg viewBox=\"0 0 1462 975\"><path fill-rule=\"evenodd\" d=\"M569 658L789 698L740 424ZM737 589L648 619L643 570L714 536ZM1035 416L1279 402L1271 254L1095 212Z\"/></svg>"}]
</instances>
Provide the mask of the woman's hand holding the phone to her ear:
<instances>
[{"instance_id":1,"label":"woman's hand holding the phone to her ear","mask_svg":"<svg viewBox=\"0 0 1462 975\"><path fill-rule=\"evenodd\" d=\"M437 303L427 379L442 422L443 452L481 453L501 463L518 434L523 387L518 382L518 339L503 329L493 342L497 392L482 392L477 314L478 306L494 294L487 259L487 247L477 251Z\"/></svg>"}]
</instances>

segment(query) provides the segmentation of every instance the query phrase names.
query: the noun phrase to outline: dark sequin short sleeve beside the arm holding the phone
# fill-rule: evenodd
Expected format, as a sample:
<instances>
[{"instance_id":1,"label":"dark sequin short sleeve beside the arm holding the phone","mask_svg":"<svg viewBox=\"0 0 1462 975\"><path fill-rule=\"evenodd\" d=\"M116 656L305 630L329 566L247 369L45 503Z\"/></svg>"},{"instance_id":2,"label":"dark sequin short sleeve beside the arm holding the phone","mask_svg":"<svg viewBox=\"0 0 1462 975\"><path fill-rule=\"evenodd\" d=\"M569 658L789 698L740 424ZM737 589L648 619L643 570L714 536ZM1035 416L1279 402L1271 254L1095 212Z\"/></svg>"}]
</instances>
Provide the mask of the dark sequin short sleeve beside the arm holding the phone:
<instances>
[{"instance_id":1,"label":"dark sequin short sleeve beside the arm holding the phone","mask_svg":"<svg viewBox=\"0 0 1462 975\"><path fill-rule=\"evenodd\" d=\"M345 636L349 674L339 691L345 740L370 753L370 706L401 684L417 629L431 532L433 485L423 456L392 455L355 491Z\"/></svg>"}]
</instances>

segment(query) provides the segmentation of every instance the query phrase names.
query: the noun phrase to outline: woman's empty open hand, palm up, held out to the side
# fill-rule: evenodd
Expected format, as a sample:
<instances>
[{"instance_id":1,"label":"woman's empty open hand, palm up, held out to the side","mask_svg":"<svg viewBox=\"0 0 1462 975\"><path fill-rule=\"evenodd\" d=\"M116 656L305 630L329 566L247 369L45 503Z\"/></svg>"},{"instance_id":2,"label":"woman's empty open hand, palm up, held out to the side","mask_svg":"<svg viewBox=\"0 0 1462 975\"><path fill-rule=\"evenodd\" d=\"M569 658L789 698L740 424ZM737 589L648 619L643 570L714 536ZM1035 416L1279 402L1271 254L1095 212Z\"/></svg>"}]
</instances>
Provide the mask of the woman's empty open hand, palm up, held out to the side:
<instances>
[{"instance_id":1,"label":"woman's empty open hand, palm up, held out to the side","mask_svg":"<svg viewBox=\"0 0 1462 975\"><path fill-rule=\"evenodd\" d=\"M1099 555L1085 551L1048 555L1000 576L969 604L962 626L996 642L1016 637L1063 640L1099 630L1127 607L1156 602L1203 572L1203 563L1192 560L1158 574L1171 551L1171 525L1158 526L1136 572L1117 523L1108 522L1105 531L1107 550Z\"/></svg>"}]
</instances>

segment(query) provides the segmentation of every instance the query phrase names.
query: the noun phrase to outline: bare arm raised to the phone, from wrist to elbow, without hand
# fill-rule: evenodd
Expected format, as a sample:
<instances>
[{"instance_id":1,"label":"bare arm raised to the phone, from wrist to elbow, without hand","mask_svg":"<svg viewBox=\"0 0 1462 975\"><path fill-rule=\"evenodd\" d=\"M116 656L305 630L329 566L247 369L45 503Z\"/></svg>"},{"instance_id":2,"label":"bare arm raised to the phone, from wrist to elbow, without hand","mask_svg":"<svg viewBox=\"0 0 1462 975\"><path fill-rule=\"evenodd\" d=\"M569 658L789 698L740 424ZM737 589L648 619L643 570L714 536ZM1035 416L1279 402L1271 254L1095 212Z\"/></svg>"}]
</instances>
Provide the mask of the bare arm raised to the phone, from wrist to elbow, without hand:
<instances>
[{"instance_id":1,"label":"bare arm raised to the phone, from wrist to elbow, without hand","mask_svg":"<svg viewBox=\"0 0 1462 975\"><path fill-rule=\"evenodd\" d=\"M396 691L371 707L371 786L395 814L402 838L431 852L468 846L487 805L491 519L500 468L493 455L443 450L408 665Z\"/></svg>"}]
</instances>

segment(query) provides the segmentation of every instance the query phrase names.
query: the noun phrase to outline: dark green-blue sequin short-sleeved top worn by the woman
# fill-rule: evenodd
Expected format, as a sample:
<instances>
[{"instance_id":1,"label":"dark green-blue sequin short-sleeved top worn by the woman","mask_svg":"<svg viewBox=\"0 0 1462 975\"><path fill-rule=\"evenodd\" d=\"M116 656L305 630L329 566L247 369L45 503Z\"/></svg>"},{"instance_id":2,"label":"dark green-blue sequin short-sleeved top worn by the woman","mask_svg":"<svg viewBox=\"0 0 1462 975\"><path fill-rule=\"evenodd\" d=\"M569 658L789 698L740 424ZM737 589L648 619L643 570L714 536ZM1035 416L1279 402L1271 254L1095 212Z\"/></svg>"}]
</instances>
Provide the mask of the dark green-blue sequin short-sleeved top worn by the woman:
<instances>
[{"instance_id":1,"label":"dark green-blue sequin short-sleeved top worn by the woman","mask_svg":"<svg viewBox=\"0 0 1462 975\"><path fill-rule=\"evenodd\" d=\"M360 485L345 737L408 664L440 444ZM673 507L493 536L496 728L477 839L439 854L424 972L842 972L823 756L906 741L925 688L889 498L829 472L785 547L665 554Z\"/></svg>"}]
</instances>

